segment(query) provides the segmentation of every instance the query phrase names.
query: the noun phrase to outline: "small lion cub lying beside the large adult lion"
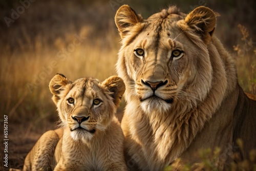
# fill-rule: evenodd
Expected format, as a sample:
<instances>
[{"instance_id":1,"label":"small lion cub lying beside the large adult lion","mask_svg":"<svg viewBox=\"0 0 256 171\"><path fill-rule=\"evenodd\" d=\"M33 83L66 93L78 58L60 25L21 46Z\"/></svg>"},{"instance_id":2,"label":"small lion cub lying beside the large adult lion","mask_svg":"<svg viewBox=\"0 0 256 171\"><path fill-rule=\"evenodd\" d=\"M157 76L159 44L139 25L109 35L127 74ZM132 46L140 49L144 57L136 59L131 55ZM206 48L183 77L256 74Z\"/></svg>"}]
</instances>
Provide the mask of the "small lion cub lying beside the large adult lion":
<instances>
[{"instance_id":1,"label":"small lion cub lying beside the large adult lion","mask_svg":"<svg viewBox=\"0 0 256 171\"><path fill-rule=\"evenodd\" d=\"M124 136L115 117L125 91L122 79L72 82L57 74L49 87L62 128L40 137L23 170L126 170Z\"/></svg>"}]
</instances>

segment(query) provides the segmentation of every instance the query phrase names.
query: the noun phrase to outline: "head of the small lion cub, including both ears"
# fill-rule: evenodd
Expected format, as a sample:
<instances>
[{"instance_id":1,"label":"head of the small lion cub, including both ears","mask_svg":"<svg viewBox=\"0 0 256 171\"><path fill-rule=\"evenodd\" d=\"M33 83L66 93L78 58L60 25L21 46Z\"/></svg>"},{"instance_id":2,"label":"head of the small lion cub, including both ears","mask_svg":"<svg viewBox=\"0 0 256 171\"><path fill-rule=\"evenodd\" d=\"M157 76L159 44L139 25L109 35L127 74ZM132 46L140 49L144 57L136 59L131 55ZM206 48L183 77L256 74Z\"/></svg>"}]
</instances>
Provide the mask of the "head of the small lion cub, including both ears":
<instances>
[{"instance_id":1,"label":"head of the small lion cub, including both ears","mask_svg":"<svg viewBox=\"0 0 256 171\"><path fill-rule=\"evenodd\" d=\"M74 140L87 141L111 123L125 86L116 76L103 82L94 78L80 78L72 82L57 74L50 82L50 90L61 125L69 127Z\"/></svg>"}]
</instances>

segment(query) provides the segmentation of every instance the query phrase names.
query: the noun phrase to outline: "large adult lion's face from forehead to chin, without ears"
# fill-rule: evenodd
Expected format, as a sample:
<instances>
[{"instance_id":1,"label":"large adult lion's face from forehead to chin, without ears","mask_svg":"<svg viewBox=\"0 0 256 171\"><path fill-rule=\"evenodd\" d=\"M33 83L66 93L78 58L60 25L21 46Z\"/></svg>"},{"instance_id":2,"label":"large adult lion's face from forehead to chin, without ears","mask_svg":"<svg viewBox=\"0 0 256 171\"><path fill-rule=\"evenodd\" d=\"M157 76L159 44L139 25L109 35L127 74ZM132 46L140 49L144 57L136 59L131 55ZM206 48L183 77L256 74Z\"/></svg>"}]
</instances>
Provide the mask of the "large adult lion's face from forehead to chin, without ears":
<instances>
[{"instance_id":1,"label":"large adult lion's face from forehead to chin, without ears","mask_svg":"<svg viewBox=\"0 0 256 171\"><path fill-rule=\"evenodd\" d=\"M152 20L132 44L125 47L131 63L127 70L135 81L135 92L145 111L169 109L195 75L188 57L193 56L188 48L194 45L175 27L177 20L171 22L166 20L162 29L157 30L159 21ZM156 32L152 32L152 28Z\"/></svg>"}]
</instances>

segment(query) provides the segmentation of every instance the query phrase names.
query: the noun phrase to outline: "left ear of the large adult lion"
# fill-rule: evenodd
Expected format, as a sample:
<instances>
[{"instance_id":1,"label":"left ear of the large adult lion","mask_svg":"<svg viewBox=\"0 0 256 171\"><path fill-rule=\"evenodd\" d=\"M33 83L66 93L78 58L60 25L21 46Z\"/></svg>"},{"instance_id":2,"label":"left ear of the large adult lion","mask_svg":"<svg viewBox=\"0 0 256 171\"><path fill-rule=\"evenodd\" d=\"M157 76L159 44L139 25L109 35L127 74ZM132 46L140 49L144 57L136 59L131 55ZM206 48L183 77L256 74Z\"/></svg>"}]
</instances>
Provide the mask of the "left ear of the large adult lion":
<instances>
[{"instance_id":1,"label":"left ear of the large adult lion","mask_svg":"<svg viewBox=\"0 0 256 171\"><path fill-rule=\"evenodd\" d=\"M132 26L142 22L143 18L127 5L121 6L115 16L115 23L121 38L129 32Z\"/></svg>"}]
</instances>

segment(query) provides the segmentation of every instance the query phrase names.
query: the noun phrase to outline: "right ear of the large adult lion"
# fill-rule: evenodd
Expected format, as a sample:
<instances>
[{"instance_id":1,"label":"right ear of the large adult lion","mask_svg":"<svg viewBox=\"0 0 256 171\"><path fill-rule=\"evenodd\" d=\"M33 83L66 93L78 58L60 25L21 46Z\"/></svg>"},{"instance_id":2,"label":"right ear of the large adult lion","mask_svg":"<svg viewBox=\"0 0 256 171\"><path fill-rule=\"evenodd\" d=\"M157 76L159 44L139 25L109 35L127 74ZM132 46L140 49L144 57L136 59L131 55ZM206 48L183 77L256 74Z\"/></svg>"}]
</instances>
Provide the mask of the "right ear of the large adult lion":
<instances>
[{"instance_id":1,"label":"right ear of the large adult lion","mask_svg":"<svg viewBox=\"0 0 256 171\"><path fill-rule=\"evenodd\" d=\"M185 23L202 35L205 44L208 44L215 30L216 15L207 7L197 7L186 16Z\"/></svg>"}]
</instances>

